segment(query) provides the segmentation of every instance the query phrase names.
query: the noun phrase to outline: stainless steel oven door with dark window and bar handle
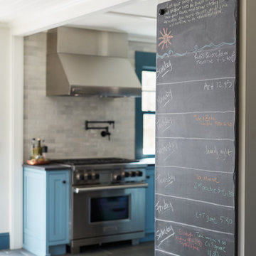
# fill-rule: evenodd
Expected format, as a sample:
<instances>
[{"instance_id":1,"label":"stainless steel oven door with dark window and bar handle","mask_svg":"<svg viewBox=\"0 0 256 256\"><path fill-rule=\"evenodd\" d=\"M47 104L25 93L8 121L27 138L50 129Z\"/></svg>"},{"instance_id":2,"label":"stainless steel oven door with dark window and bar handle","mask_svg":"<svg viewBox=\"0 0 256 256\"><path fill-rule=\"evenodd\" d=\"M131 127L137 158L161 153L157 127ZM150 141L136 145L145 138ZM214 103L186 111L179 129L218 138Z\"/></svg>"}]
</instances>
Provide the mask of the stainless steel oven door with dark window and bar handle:
<instances>
[{"instance_id":1,"label":"stainless steel oven door with dark window and bar handle","mask_svg":"<svg viewBox=\"0 0 256 256\"><path fill-rule=\"evenodd\" d=\"M73 188L73 240L144 231L146 183Z\"/></svg>"}]
</instances>

